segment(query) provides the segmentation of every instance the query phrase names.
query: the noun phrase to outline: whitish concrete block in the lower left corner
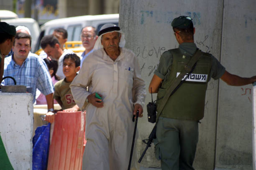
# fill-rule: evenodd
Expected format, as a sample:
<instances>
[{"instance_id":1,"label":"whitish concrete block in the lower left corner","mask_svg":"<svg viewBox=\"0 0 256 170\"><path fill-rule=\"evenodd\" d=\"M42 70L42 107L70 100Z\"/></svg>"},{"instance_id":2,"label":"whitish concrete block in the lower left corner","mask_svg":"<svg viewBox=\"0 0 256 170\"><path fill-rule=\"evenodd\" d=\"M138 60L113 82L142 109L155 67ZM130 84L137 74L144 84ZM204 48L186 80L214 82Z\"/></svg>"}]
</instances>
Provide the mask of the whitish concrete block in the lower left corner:
<instances>
[{"instance_id":1,"label":"whitish concrete block in the lower left corner","mask_svg":"<svg viewBox=\"0 0 256 170\"><path fill-rule=\"evenodd\" d=\"M32 170L33 95L0 92L0 134L14 170Z\"/></svg>"}]
</instances>

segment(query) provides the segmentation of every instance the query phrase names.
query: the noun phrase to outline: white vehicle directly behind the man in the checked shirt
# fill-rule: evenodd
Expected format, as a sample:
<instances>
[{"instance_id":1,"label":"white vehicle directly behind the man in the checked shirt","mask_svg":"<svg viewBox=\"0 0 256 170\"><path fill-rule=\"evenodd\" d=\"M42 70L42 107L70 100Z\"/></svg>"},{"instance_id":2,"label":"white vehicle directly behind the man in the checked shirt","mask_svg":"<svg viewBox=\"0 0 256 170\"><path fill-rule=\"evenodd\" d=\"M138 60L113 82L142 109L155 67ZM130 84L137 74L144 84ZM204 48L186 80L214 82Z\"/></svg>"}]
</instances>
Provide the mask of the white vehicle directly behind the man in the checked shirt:
<instances>
[{"instance_id":1,"label":"white vehicle directly behind the man in the checked shirt","mask_svg":"<svg viewBox=\"0 0 256 170\"><path fill-rule=\"evenodd\" d=\"M36 42L40 33L40 28L36 20L34 20L33 18L16 18L2 21L10 25L14 25L15 27L18 27L19 25L27 27L32 37L31 51L35 51Z\"/></svg>"}]
</instances>

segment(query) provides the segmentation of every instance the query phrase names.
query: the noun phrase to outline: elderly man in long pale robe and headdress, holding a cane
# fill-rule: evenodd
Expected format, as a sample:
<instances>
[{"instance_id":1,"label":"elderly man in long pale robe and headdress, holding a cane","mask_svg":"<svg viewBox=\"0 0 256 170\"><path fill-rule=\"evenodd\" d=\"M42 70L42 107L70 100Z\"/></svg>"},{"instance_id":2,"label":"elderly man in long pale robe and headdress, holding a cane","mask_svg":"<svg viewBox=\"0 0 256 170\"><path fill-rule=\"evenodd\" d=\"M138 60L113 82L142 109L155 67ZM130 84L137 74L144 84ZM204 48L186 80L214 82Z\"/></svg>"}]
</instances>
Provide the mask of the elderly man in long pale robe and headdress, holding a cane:
<instances>
[{"instance_id":1,"label":"elderly man in long pale robe and headdress, holding a cane","mask_svg":"<svg viewBox=\"0 0 256 170\"><path fill-rule=\"evenodd\" d=\"M137 57L124 48L125 35L119 27L105 24L98 36L94 51L85 58L70 85L82 110L85 101L89 102L83 170L123 170L128 168L131 152L135 125L132 117L137 110L139 117L143 116L145 82ZM136 168L133 155L131 168Z\"/></svg>"}]
</instances>

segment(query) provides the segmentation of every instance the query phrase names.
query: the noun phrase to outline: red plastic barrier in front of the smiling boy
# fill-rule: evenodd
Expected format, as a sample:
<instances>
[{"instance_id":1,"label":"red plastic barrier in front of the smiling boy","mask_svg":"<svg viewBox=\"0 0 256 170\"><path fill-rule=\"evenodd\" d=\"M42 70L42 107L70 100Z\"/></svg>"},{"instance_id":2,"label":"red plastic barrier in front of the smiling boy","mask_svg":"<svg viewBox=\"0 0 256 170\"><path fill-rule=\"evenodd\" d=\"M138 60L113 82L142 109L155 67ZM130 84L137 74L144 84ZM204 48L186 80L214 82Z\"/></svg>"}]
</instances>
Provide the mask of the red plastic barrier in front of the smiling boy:
<instances>
[{"instance_id":1,"label":"red plastic barrier in front of the smiling boy","mask_svg":"<svg viewBox=\"0 0 256 170\"><path fill-rule=\"evenodd\" d=\"M47 170L81 170L85 112L57 112Z\"/></svg>"}]
</instances>

